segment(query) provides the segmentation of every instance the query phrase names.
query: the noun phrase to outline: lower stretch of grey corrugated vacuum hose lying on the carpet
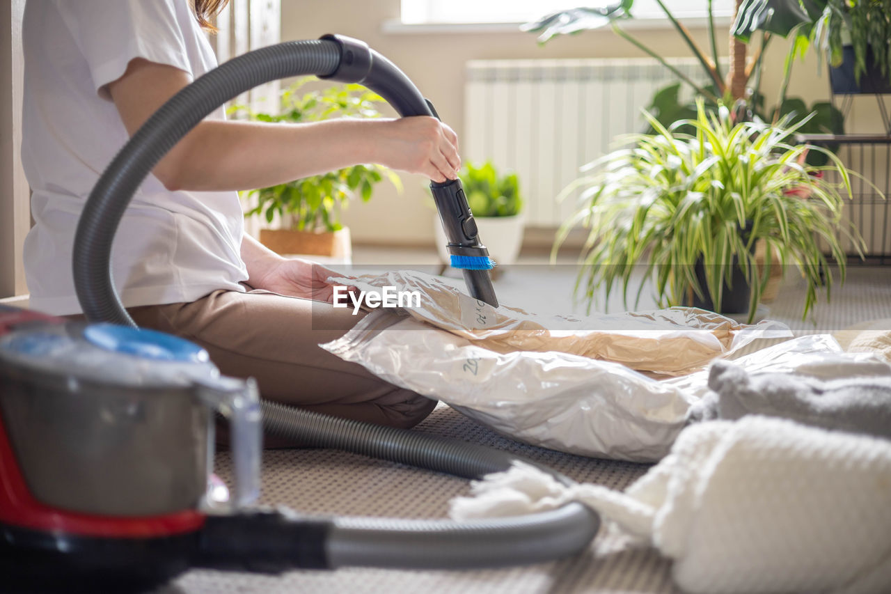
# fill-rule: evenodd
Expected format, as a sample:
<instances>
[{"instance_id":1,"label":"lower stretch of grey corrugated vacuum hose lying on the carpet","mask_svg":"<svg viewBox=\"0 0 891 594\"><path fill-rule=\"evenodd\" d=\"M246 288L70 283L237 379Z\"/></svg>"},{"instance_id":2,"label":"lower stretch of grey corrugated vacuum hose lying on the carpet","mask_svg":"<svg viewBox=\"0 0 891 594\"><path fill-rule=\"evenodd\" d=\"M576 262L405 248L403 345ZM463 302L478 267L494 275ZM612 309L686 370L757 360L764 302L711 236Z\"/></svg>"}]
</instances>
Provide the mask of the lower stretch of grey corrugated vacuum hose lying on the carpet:
<instances>
[{"instance_id":1,"label":"lower stretch of grey corrugated vacuum hose lying on the carpet","mask_svg":"<svg viewBox=\"0 0 891 594\"><path fill-rule=\"evenodd\" d=\"M266 431L296 443L312 443L437 472L481 478L507 470L518 458L458 441L265 401ZM569 480L549 468L523 460ZM570 503L532 516L473 523L447 520L335 518L325 544L330 567L366 565L408 569L497 567L549 561L584 549L600 526L588 507Z\"/></svg>"}]
</instances>

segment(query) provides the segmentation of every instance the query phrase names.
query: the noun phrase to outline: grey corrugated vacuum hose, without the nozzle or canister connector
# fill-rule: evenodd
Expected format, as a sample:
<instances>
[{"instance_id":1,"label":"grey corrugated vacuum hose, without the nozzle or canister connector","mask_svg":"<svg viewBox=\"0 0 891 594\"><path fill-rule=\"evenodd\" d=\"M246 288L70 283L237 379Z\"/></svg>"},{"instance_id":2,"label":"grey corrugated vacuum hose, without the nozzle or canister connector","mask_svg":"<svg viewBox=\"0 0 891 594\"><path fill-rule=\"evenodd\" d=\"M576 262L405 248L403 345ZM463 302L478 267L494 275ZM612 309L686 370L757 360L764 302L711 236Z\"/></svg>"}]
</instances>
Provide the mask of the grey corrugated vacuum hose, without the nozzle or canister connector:
<instances>
[{"instance_id":1,"label":"grey corrugated vacuum hose, without the nozzle or canister connector","mask_svg":"<svg viewBox=\"0 0 891 594\"><path fill-rule=\"evenodd\" d=\"M334 38L289 42L243 54L184 87L152 115L102 174L78 222L74 282L86 318L135 326L110 275L111 243L119 221L136 189L163 155L219 105L277 78L317 74L358 81L365 73L369 81L387 81L383 85L387 88L380 84L372 87L385 97L406 105L416 103L420 93L382 57L378 72L383 75L374 76L373 59L379 54L367 46L363 50L363 45ZM344 64L348 68L341 76L339 69ZM364 65L366 70L359 68ZM405 106L399 108L402 111ZM470 444L459 447L451 440L356 424L269 402L263 403L263 409L264 426L270 433L461 476L504 470L514 459L497 450ZM331 566L508 565L577 552L593 539L598 524L596 514L579 504L535 516L467 524L338 518L332 521L325 546Z\"/></svg>"}]
</instances>

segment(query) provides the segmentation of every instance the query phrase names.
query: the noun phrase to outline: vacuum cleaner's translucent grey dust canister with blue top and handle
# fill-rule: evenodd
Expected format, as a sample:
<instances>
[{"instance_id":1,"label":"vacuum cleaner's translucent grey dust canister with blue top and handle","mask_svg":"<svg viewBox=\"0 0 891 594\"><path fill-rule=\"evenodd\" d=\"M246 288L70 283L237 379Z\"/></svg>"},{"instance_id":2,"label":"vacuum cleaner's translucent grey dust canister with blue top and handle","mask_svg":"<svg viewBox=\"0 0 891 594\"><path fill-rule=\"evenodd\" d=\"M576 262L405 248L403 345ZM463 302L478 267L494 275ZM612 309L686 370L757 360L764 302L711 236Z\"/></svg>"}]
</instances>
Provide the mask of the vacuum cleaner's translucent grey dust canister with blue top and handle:
<instances>
[{"instance_id":1,"label":"vacuum cleaner's translucent grey dust canister with blue top and handle","mask_svg":"<svg viewBox=\"0 0 891 594\"><path fill-rule=\"evenodd\" d=\"M204 507L214 412L232 420L239 504L257 497L252 382L207 351L151 331L58 324L0 338L0 413L30 493L81 514L164 516Z\"/></svg>"}]
</instances>

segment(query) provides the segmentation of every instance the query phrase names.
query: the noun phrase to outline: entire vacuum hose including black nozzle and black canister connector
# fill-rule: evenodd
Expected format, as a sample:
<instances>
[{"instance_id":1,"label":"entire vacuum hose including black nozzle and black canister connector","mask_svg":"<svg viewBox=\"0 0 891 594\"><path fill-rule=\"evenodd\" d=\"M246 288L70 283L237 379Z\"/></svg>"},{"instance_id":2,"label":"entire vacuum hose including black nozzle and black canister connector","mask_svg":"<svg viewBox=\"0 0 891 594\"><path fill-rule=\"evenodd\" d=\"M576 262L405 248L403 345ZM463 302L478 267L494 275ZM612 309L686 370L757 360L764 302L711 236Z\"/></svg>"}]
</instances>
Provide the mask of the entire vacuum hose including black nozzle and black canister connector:
<instances>
[{"instance_id":1,"label":"entire vacuum hose including black nozzle and black canister connector","mask_svg":"<svg viewBox=\"0 0 891 594\"><path fill-rule=\"evenodd\" d=\"M135 326L111 277L111 243L127 204L164 154L226 101L271 80L307 74L362 83L402 115L433 115L429 103L401 70L363 42L348 37L326 36L271 45L209 71L145 122L111 161L86 202L75 235L74 282L87 319ZM460 182L451 187L450 191L440 189L437 193L440 216L450 235L450 251L460 257L487 258ZM459 231L463 235L457 236ZM468 276L469 272L481 274ZM465 270L465 277L475 297L497 304L487 270ZM517 459L462 441L328 417L268 401L261 407L267 433L462 477L479 478L506 470ZM244 553L272 565L281 557L284 566L514 565L574 554L593 539L599 524L593 510L578 503L543 514L475 523L380 518L310 520L257 511L242 516L208 516L202 554L196 561L206 566L243 565L247 563L241 556ZM271 532L281 530L282 538L269 538L263 529L257 531L264 525ZM257 538L251 540L250 532ZM227 533L233 538L226 538ZM241 550L233 550L233 546Z\"/></svg>"}]
</instances>

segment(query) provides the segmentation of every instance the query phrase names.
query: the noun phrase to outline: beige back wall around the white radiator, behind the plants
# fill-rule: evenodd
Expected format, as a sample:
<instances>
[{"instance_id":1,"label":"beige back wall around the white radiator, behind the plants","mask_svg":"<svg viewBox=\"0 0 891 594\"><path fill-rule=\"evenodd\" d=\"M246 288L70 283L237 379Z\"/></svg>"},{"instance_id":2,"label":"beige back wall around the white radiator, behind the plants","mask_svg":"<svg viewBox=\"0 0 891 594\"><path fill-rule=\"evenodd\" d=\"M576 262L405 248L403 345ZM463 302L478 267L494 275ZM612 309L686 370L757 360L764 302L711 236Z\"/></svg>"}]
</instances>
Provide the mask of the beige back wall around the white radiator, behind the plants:
<instances>
[{"instance_id":1,"label":"beige back wall around the white radiator, behind the plants","mask_svg":"<svg viewBox=\"0 0 891 594\"><path fill-rule=\"evenodd\" d=\"M581 4L581 3L580 3ZM341 33L366 41L395 62L412 78L421 92L437 106L440 116L462 134L464 126L464 62L472 59L510 58L609 58L642 57L640 50L616 37L609 29L587 31L575 37L552 39L544 47L535 37L519 31L493 33L429 33L381 30L384 21L397 19L399 0L285 0L282 2L282 39L315 38L324 33ZM674 29L632 31L659 54L689 56ZM699 44L707 47L704 28L693 29ZM719 52L727 51L727 28L718 31ZM773 42L766 56L762 87L773 103L782 77L787 42ZM829 96L825 74L816 76L813 56L796 64L790 95L802 95L812 102ZM874 103L874 102L873 102ZM431 244L433 211L426 199L424 179L404 176L405 193L397 195L386 182L375 190L372 202L355 204L347 211L347 225L359 243Z\"/></svg>"}]
</instances>

